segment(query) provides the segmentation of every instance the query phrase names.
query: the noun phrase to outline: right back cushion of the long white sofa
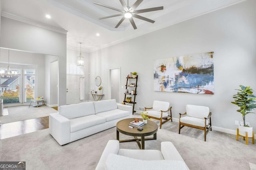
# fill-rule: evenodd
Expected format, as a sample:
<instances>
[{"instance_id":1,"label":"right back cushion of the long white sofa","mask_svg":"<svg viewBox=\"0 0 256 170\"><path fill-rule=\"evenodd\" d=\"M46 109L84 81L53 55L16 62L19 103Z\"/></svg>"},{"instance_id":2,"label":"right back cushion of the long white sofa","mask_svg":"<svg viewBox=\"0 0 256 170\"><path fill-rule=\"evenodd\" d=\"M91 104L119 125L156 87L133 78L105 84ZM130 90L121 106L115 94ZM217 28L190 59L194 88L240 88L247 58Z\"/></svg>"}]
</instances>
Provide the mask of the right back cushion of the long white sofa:
<instances>
[{"instance_id":1,"label":"right back cushion of the long white sofa","mask_svg":"<svg viewBox=\"0 0 256 170\"><path fill-rule=\"evenodd\" d=\"M117 109L116 99L93 102L95 113Z\"/></svg>"}]
</instances>

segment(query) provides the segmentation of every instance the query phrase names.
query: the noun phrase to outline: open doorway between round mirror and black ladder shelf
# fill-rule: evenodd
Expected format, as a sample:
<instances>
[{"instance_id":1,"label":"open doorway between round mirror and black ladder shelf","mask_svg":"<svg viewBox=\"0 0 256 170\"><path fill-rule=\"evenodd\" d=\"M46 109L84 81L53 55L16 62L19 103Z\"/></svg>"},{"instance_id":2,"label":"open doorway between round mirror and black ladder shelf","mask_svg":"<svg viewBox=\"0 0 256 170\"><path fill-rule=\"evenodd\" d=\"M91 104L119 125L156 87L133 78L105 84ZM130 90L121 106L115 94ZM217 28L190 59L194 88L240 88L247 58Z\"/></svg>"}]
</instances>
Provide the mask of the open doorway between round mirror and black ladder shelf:
<instances>
[{"instance_id":1,"label":"open doorway between round mirror and black ladder shelf","mask_svg":"<svg viewBox=\"0 0 256 170\"><path fill-rule=\"evenodd\" d=\"M116 99L120 103L121 68L110 69L110 99Z\"/></svg>"}]
</instances>

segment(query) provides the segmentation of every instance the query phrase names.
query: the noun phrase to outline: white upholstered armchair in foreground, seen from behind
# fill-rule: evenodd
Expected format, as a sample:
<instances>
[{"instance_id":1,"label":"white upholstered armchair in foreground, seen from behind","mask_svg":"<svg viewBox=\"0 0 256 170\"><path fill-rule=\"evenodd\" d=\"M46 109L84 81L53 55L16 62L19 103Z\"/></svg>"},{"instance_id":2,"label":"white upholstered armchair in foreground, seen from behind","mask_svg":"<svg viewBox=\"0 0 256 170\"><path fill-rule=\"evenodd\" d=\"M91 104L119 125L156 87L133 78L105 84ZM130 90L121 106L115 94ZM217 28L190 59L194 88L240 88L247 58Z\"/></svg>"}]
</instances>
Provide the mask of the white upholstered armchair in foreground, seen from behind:
<instances>
[{"instance_id":1,"label":"white upholstered armchair in foreground, seen from behind","mask_svg":"<svg viewBox=\"0 0 256 170\"><path fill-rule=\"evenodd\" d=\"M189 170L171 142L162 142L160 150L119 149L119 141L108 141L96 170Z\"/></svg>"}]
</instances>

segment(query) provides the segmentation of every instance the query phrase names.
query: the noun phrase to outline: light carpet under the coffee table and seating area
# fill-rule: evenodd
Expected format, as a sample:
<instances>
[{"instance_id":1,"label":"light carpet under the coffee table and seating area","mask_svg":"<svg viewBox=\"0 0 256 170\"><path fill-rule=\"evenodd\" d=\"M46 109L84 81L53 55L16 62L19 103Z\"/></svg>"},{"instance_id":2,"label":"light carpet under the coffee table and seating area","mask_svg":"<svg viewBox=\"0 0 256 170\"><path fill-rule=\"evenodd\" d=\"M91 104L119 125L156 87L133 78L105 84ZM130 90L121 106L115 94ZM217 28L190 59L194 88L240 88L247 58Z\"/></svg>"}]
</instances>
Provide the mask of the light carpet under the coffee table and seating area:
<instances>
[{"instance_id":1,"label":"light carpet under the coffee table and seating area","mask_svg":"<svg viewBox=\"0 0 256 170\"><path fill-rule=\"evenodd\" d=\"M159 123L158 123L159 124ZM120 134L120 139L130 137ZM1 161L26 161L27 170L94 170L110 139L116 139L116 127L60 146L49 129L0 140ZM171 141L190 170L250 170L256 163L256 146L242 138L219 131L204 132L167 122L158 129L157 140L145 141L145 149L160 150L162 141ZM120 143L123 149L138 149L136 142Z\"/></svg>"}]
</instances>

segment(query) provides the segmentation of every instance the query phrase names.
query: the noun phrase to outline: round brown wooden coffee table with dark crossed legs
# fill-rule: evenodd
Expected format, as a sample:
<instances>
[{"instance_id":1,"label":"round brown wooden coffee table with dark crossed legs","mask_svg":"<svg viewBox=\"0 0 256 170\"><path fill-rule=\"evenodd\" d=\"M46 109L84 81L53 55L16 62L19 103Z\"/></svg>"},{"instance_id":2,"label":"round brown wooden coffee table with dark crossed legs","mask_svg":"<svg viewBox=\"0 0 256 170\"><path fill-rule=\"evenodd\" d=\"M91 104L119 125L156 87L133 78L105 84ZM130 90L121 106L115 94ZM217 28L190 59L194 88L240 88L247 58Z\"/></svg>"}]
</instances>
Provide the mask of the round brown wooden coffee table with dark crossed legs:
<instances>
[{"instance_id":1,"label":"round brown wooden coffee table with dark crossed legs","mask_svg":"<svg viewBox=\"0 0 256 170\"><path fill-rule=\"evenodd\" d=\"M158 125L154 121L148 120L148 123L142 126L143 127L142 131L139 131L137 127L130 128L129 123L132 121L134 121L134 118L123 119L116 123L116 140L118 140L119 142L136 141L140 149L145 148L144 147L145 141L156 140L156 132L158 130ZM139 119L139 121L142 121L142 119ZM119 132L124 135L133 136L134 139L119 140ZM145 136L149 136L149 135L154 135L154 137L145 138ZM140 137L140 139L138 139L137 137Z\"/></svg>"}]
</instances>

